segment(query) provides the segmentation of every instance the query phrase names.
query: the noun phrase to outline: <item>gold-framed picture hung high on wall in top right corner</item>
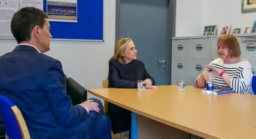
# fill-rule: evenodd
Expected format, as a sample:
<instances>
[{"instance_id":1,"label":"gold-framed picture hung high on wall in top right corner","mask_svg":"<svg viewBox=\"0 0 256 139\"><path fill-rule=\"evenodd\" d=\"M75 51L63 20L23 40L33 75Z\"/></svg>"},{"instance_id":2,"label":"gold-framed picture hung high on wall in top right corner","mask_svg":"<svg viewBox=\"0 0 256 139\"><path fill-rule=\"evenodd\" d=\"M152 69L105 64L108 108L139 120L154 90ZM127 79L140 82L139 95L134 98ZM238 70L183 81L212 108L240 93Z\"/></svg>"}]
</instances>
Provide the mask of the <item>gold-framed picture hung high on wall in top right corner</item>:
<instances>
[{"instance_id":1,"label":"gold-framed picture hung high on wall in top right corner","mask_svg":"<svg viewBox=\"0 0 256 139\"><path fill-rule=\"evenodd\" d=\"M241 0L241 12L254 12L256 11L255 0Z\"/></svg>"}]
</instances>

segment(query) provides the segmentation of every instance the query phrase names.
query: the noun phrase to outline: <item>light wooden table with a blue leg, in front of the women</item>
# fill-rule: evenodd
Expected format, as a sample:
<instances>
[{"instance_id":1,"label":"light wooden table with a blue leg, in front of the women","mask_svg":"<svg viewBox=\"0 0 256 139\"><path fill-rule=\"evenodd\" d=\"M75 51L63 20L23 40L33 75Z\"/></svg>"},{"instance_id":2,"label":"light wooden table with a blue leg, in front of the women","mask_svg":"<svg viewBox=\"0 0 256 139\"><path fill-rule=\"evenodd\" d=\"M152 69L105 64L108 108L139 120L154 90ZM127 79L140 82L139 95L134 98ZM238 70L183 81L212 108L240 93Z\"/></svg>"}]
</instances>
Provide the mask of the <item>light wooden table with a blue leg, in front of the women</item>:
<instances>
[{"instance_id":1,"label":"light wooden table with a blue leg, in front of the women","mask_svg":"<svg viewBox=\"0 0 256 139\"><path fill-rule=\"evenodd\" d=\"M132 111L133 120L140 115L203 138L256 138L255 95L213 96L202 94L201 89L193 86L179 92L176 85L146 91L106 88L88 92ZM132 132L137 132L138 125L133 124Z\"/></svg>"}]
</instances>

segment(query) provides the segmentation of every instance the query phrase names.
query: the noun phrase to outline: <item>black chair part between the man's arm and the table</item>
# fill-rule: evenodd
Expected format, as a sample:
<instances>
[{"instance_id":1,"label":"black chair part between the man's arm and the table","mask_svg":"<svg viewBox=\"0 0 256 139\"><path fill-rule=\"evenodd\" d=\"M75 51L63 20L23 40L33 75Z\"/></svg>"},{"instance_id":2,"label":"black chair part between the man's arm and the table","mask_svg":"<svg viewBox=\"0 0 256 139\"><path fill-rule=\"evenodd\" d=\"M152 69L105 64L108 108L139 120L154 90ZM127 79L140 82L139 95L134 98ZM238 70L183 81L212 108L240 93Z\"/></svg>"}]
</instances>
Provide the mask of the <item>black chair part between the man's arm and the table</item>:
<instances>
[{"instance_id":1,"label":"black chair part between the man's arm and the table","mask_svg":"<svg viewBox=\"0 0 256 139\"><path fill-rule=\"evenodd\" d=\"M67 78L67 94L70 96L73 105L87 100L87 90L70 77Z\"/></svg>"}]
</instances>

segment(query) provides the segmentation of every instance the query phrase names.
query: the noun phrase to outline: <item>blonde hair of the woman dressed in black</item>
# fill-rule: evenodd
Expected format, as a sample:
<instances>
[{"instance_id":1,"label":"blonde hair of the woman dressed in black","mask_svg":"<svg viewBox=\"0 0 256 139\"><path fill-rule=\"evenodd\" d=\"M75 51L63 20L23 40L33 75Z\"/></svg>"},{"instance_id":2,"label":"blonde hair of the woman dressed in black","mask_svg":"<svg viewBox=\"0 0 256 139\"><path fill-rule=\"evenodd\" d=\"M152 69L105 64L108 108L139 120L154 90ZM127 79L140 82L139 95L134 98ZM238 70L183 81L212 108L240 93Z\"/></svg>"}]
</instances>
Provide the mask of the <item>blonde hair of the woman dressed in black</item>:
<instances>
[{"instance_id":1,"label":"blonde hair of the woman dressed in black","mask_svg":"<svg viewBox=\"0 0 256 139\"><path fill-rule=\"evenodd\" d=\"M111 56L110 60L118 60L120 63L125 64L123 55L125 48L128 43L133 42L131 38L119 38L116 40L114 55Z\"/></svg>"}]
</instances>

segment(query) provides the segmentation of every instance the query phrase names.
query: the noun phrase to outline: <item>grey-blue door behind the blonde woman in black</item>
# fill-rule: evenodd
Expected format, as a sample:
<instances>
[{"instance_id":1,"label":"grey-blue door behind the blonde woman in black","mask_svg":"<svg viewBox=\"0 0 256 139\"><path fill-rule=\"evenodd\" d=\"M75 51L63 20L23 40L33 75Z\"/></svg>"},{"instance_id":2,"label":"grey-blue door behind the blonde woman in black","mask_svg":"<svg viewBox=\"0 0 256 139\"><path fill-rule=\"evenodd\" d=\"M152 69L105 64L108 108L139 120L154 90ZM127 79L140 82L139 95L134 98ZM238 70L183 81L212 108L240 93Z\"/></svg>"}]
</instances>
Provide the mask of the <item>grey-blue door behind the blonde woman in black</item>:
<instances>
[{"instance_id":1,"label":"grey-blue door behind the blonde woman in black","mask_svg":"<svg viewBox=\"0 0 256 139\"><path fill-rule=\"evenodd\" d=\"M167 55L171 50L169 20L169 0L117 1L116 39L133 39L137 59L145 64L156 85L166 85L170 80L167 76L170 64ZM159 62L163 60L165 63Z\"/></svg>"}]
</instances>

